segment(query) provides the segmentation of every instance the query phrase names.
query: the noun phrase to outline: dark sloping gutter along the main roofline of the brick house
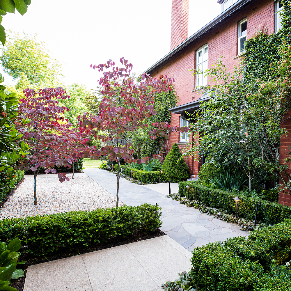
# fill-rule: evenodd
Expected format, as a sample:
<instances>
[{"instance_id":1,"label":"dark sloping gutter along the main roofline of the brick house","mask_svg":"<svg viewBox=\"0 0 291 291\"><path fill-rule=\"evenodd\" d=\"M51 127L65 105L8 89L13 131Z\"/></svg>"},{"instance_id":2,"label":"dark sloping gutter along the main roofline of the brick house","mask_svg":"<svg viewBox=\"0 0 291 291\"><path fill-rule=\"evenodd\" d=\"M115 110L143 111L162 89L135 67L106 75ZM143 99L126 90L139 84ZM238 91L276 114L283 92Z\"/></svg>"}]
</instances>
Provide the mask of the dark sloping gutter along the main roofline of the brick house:
<instances>
[{"instance_id":1,"label":"dark sloping gutter along the main roofline of the brick house","mask_svg":"<svg viewBox=\"0 0 291 291\"><path fill-rule=\"evenodd\" d=\"M192 36L187 38L184 42L182 42L180 45L175 47L171 50L168 54L166 54L163 58L161 58L159 61L154 63L152 66L150 66L147 70L145 70L145 73L152 72L155 68L157 68L159 65L173 57L175 54L177 54L179 51L183 50L185 47L191 45L192 42L194 42L197 38L203 37L204 33L208 33L210 30L214 28L214 26L221 24L224 22L224 18L227 16L232 16L236 10L242 8L246 3L252 2L253 0L240 0L237 1L235 4L230 6L228 9L220 13L217 17L215 17L211 22L207 23L205 26L203 26L201 29L199 29L196 33L194 33Z\"/></svg>"}]
</instances>

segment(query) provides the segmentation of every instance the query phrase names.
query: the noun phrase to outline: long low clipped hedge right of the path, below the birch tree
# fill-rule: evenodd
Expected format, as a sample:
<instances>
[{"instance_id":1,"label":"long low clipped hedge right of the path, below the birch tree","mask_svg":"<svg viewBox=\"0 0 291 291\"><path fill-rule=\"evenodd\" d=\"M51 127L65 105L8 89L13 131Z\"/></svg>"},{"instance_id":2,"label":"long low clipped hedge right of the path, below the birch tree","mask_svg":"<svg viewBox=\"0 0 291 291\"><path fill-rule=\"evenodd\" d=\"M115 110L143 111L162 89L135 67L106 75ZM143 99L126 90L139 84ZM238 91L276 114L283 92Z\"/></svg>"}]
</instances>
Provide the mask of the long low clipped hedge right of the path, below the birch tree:
<instances>
[{"instance_id":1,"label":"long low clipped hedge right of the path, below the birch tree","mask_svg":"<svg viewBox=\"0 0 291 291\"><path fill-rule=\"evenodd\" d=\"M235 200L237 193L224 191L221 189L214 189L199 184L197 181L184 181L179 182L178 194L182 197L187 196L187 188L189 185L189 199L200 200L204 205L223 208L230 212L235 212ZM237 213L240 217L247 220L255 219L255 210L257 203L261 202L261 207L258 207L257 220L264 221L267 224L274 224L284 219L291 218L291 207L279 204L278 202L269 202L261 200L260 198L251 198L239 194L242 200L237 203Z\"/></svg>"}]
</instances>

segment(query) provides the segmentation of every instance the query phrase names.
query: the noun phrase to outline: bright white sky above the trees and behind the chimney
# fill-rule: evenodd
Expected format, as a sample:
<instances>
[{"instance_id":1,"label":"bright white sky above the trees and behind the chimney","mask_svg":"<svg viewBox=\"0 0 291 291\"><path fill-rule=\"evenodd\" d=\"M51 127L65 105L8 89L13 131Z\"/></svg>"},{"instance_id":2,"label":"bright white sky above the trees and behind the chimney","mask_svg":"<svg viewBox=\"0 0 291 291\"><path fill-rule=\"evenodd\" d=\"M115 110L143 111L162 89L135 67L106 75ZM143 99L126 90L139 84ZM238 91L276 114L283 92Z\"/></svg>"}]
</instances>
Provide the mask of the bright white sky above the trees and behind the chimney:
<instances>
[{"instance_id":1,"label":"bright white sky above the trees and behind the chimney","mask_svg":"<svg viewBox=\"0 0 291 291\"><path fill-rule=\"evenodd\" d=\"M170 51L171 0L32 0L26 14L7 13L2 26L46 43L67 84L97 86L91 64L124 57L141 73ZM189 0L189 36L220 14L217 0ZM1 70L1 67L0 67ZM6 82L12 79L1 70Z\"/></svg>"}]
</instances>

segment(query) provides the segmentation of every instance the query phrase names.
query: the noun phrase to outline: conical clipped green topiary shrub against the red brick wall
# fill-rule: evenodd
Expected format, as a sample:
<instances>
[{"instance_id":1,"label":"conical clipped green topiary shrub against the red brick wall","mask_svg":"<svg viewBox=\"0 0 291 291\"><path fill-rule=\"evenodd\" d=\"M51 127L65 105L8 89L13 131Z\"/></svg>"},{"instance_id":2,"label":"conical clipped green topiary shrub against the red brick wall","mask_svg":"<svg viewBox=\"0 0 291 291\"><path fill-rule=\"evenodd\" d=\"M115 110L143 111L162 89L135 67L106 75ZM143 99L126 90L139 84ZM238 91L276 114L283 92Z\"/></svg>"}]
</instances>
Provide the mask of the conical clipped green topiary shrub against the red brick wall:
<instances>
[{"instance_id":1,"label":"conical clipped green topiary shrub against the red brick wall","mask_svg":"<svg viewBox=\"0 0 291 291\"><path fill-rule=\"evenodd\" d=\"M173 183L185 181L189 178L189 168L184 159L177 163L181 156L177 143L174 143L162 166L166 179L171 180Z\"/></svg>"}]
</instances>

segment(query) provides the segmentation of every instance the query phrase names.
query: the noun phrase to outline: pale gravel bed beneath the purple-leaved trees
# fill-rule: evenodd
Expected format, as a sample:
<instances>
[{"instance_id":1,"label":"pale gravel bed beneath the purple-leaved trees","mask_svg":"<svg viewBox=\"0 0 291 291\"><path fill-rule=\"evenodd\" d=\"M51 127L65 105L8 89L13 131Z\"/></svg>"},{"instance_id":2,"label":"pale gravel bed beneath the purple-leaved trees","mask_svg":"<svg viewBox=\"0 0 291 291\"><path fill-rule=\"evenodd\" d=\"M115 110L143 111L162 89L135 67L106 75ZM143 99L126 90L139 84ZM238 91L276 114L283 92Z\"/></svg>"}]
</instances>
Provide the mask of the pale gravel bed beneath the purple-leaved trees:
<instances>
[{"instance_id":1,"label":"pale gravel bed beneath the purple-leaved trees","mask_svg":"<svg viewBox=\"0 0 291 291\"><path fill-rule=\"evenodd\" d=\"M37 178L37 205L33 205L33 190L34 180L25 178L1 208L0 219L116 206L116 197L88 176L76 176L63 183L55 176ZM118 206L122 205L119 201Z\"/></svg>"}]
</instances>

